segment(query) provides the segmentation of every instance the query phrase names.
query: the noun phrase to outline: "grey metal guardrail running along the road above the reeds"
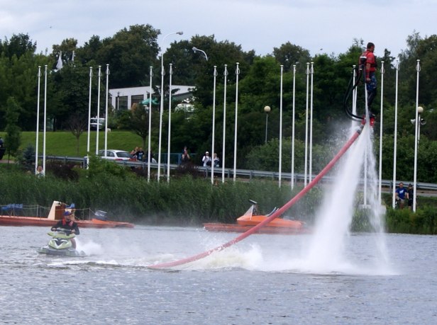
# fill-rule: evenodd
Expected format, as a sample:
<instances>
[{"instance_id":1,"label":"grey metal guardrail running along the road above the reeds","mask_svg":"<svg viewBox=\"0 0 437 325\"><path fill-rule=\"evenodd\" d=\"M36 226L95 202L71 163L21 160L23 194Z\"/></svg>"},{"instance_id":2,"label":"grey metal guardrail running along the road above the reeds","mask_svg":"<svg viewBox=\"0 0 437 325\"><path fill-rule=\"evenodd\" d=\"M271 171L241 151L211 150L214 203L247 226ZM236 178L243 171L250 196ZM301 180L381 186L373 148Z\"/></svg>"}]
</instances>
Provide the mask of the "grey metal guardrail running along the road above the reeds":
<instances>
[{"instance_id":1,"label":"grey metal guardrail running along the road above the reeds","mask_svg":"<svg viewBox=\"0 0 437 325\"><path fill-rule=\"evenodd\" d=\"M42 156L40 157L42 158ZM73 161L82 164L82 166L87 166L87 157L70 157L70 156L46 156L48 160L59 160L63 162ZM143 169L147 169L147 161L113 161L116 164L120 164L128 167L142 167ZM170 164L170 169L177 169L179 167L178 164ZM150 163L150 168L157 169L157 163ZM163 171L167 171L167 164L161 164L161 169ZM197 166L197 170L203 171L204 173L208 173L210 175L211 168L204 166ZM233 177L233 169L225 168L225 177L231 178ZM222 167L214 168L214 175L219 176L222 174ZM162 175L165 175L163 173ZM251 169L236 169L236 176L239 178L271 178L273 180L279 180L279 172L278 171L255 171ZM291 181L292 173L281 173L281 179L283 181ZM294 181L295 182L303 182L304 174L303 173L294 173ZM322 183L332 183L335 181L335 177L333 176L323 176L321 182ZM363 180L360 183L364 183ZM397 181L396 186L399 186L399 183L412 183L411 181ZM381 186L385 188L389 188L392 190L393 181L392 180L381 180ZM437 190L437 184L434 183L417 183L418 190Z\"/></svg>"}]
</instances>

